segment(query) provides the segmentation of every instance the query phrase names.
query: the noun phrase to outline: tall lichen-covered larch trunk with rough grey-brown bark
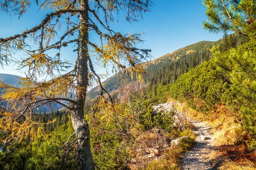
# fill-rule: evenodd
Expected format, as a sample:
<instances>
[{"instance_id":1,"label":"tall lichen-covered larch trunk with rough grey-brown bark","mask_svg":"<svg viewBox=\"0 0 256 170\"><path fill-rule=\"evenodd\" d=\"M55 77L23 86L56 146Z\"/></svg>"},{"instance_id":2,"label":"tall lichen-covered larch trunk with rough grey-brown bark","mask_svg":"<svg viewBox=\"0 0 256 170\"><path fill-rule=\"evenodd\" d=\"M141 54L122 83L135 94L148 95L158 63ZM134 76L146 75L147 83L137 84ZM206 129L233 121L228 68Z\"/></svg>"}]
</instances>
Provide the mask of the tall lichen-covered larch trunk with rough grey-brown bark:
<instances>
[{"instance_id":1,"label":"tall lichen-covered larch trunk with rough grey-brown bark","mask_svg":"<svg viewBox=\"0 0 256 170\"><path fill-rule=\"evenodd\" d=\"M81 170L94 170L94 162L90 152L90 130L84 119L84 102L88 86L88 9L87 0L80 0L81 13L79 14L79 42L78 42L78 67L76 105L71 113L71 119L78 142L78 154L81 161Z\"/></svg>"}]
</instances>

